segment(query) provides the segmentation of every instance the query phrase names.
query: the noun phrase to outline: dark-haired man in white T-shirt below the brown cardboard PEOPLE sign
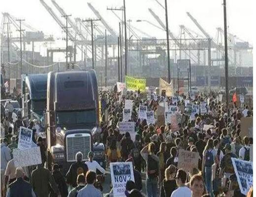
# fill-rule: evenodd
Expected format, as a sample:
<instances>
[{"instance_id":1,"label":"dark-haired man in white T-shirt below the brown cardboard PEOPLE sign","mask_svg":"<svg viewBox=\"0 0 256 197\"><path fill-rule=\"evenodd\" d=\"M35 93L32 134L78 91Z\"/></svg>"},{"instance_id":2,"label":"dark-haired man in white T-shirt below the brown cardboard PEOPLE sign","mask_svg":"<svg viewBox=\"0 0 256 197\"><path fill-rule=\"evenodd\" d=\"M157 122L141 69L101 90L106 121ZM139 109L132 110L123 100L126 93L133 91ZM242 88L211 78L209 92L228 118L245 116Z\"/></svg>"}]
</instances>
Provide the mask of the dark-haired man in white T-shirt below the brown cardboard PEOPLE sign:
<instances>
[{"instance_id":1,"label":"dark-haired man in white T-shirt below the brown cardboard PEOPLE sign","mask_svg":"<svg viewBox=\"0 0 256 197\"><path fill-rule=\"evenodd\" d=\"M177 171L175 179L178 189L172 192L171 197L190 197L191 190L187 186L185 186L187 180L187 173L184 170L179 169Z\"/></svg>"}]
</instances>

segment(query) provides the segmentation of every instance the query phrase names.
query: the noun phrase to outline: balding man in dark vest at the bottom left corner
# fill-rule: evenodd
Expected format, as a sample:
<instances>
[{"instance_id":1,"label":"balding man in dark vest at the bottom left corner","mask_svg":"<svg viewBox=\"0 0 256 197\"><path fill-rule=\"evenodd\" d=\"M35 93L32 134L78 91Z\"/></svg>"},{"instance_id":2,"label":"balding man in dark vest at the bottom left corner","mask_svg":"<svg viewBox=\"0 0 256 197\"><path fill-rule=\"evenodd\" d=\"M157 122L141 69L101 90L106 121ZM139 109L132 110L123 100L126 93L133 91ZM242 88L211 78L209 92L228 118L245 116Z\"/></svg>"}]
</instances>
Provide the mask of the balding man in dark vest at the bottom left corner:
<instances>
[{"instance_id":1,"label":"balding man in dark vest at the bottom left corner","mask_svg":"<svg viewBox=\"0 0 256 197\"><path fill-rule=\"evenodd\" d=\"M7 197L36 197L30 183L23 179L23 169L16 169L16 181L9 185Z\"/></svg>"}]
</instances>

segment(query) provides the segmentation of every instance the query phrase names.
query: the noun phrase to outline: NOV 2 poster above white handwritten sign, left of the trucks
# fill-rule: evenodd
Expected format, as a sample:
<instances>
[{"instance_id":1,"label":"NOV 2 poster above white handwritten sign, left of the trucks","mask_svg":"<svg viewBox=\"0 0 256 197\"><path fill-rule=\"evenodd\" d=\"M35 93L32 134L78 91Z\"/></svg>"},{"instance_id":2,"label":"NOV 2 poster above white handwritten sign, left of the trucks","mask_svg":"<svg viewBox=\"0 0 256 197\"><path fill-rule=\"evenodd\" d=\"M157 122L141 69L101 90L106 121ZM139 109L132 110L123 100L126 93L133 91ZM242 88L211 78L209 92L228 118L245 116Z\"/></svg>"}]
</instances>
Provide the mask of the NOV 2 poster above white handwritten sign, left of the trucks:
<instances>
[{"instance_id":1,"label":"NOV 2 poster above white handwritten sign, left of the trucks","mask_svg":"<svg viewBox=\"0 0 256 197\"><path fill-rule=\"evenodd\" d=\"M32 133L33 133L32 130L25 127L20 127L18 149L24 150L24 149L31 148Z\"/></svg>"}]
</instances>

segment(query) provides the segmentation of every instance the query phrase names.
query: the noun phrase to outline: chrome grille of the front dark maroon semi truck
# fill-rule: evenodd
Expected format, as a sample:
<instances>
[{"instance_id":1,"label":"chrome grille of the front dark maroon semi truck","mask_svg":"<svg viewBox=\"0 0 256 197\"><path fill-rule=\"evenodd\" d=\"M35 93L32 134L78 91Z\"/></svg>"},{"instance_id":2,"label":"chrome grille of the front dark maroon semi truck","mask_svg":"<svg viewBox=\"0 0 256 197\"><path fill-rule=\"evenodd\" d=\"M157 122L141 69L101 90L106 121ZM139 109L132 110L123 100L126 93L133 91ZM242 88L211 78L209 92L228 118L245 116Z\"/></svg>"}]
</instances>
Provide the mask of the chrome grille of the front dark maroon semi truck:
<instances>
[{"instance_id":1,"label":"chrome grille of the front dark maroon semi truck","mask_svg":"<svg viewBox=\"0 0 256 197\"><path fill-rule=\"evenodd\" d=\"M87 158L91 151L91 136L87 133L71 134L66 138L67 146L67 162L76 161L76 153L83 153L83 160Z\"/></svg>"}]
</instances>

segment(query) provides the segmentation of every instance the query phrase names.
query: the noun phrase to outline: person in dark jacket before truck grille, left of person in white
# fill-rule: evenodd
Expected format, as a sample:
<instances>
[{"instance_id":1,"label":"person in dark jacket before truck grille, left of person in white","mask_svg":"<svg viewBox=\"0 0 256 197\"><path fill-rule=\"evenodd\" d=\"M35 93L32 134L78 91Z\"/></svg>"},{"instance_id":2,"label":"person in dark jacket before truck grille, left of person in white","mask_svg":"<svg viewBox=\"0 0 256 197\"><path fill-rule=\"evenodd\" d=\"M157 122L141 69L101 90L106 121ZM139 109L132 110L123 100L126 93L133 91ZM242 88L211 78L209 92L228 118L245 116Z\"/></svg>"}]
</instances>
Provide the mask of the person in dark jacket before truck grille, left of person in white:
<instances>
[{"instance_id":1,"label":"person in dark jacket before truck grille, left of person in white","mask_svg":"<svg viewBox=\"0 0 256 197\"><path fill-rule=\"evenodd\" d=\"M71 185L73 188L77 186L76 179L79 174L86 174L88 171L88 166L82 162L83 154L81 152L76 153L76 163L73 163L67 174L66 174L66 182Z\"/></svg>"}]
</instances>

